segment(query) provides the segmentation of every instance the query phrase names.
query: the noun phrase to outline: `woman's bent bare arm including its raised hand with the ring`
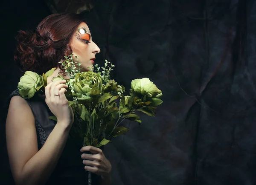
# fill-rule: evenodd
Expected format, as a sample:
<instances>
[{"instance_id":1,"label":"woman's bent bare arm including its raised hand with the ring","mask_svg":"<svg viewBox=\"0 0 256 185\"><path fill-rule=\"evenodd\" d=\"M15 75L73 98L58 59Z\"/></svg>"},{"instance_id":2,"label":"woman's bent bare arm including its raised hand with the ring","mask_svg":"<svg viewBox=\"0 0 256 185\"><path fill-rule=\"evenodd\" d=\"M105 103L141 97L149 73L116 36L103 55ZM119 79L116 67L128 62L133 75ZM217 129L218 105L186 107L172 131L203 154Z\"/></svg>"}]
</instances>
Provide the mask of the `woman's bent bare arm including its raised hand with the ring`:
<instances>
[{"instance_id":1,"label":"woman's bent bare arm including its raised hand with the ring","mask_svg":"<svg viewBox=\"0 0 256 185\"><path fill-rule=\"evenodd\" d=\"M45 184L61 156L74 120L64 94L67 91L65 82L51 82L45 87L45 101L58 122L39 151L32 110L20 96L15 96L10 101L6 119L6 142L17 185Z\"/></svg>"}]
</instances>

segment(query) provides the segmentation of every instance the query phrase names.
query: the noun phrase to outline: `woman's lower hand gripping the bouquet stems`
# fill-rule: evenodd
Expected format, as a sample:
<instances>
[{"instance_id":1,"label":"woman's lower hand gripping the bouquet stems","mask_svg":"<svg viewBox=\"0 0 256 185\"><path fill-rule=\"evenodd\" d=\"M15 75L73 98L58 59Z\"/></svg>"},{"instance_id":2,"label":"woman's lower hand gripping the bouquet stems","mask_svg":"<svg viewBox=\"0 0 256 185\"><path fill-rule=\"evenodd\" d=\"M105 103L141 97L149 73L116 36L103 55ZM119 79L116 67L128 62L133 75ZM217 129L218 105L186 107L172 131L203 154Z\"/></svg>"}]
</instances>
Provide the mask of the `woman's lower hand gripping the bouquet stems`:
<instances>
[{"instance_id":1,"label":"woman's lower hand gripping the bouquet stems","mask_svg":"<svg viewBox=\"0 0 256 185\"><path fill-rule=\"evenodd\" d=\"M82 147L80 151L93 153L83 153L81 155L81 158L84 159L83 164L85 165L84 169L86 171L90 171L103 177L110 177L112 168L111 163L105 157L101 149L93 146L86 146Z\"/></svg>"}]
</instances>

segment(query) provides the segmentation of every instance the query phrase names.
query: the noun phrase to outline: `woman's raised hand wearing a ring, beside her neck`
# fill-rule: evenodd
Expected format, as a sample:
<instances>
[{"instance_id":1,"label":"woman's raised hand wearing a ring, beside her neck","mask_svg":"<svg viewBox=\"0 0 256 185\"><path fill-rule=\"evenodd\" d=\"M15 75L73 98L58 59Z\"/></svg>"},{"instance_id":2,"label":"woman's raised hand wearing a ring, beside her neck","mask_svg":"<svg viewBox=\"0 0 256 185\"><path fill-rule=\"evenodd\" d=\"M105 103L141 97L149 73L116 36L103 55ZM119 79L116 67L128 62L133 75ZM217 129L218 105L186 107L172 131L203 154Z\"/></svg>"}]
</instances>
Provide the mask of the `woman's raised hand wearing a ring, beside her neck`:
<instances>
[{"instance_id":1,"label":"woman's raised hand wearing a ring, beside her neck","mask_svg":"<svg viewBox=\"0 0 256 185\"><path fill-rule=\"evenodd\" d=\"M68 100L65 95L68 86L65 83L65 80L49 83L45 87L45 102L56 116L58 123L71 127L74 122L74 114L71 107L68 107Z\"/></svg>"}]
</instances>

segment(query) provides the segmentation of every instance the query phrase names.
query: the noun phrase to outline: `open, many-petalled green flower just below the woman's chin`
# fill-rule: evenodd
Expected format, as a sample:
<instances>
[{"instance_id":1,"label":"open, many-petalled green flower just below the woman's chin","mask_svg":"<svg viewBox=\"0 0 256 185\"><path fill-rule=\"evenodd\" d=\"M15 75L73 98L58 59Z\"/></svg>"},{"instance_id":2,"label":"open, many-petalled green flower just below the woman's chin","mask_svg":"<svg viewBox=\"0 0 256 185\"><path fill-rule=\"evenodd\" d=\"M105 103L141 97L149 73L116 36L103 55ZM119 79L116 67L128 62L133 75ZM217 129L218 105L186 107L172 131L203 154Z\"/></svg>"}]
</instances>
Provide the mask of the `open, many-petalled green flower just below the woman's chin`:
<instances>
[{"instance_id":1,"label":"open, many-petalled green flower just below the woman's chin","mask_svg":"<svg viewBox=\"0 0 256 185\"><path fill-rule=\"evenodd\" d=\"M102 93L102 78L100 73L92 71L79 72L73 82L74 91L87 96L100 95Z\"/></svg>"}]
</instances>

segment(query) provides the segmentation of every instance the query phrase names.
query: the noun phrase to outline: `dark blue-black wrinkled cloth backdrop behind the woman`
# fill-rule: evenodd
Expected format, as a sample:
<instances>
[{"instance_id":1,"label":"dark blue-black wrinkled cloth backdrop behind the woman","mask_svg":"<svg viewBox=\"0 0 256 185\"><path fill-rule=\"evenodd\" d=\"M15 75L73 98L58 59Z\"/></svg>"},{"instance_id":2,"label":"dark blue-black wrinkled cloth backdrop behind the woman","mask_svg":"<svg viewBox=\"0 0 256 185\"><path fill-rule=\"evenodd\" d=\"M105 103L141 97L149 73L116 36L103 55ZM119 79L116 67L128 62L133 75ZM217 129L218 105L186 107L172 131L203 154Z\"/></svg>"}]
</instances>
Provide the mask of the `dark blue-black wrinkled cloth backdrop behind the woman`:
<instances>
[{"instance_id":1,"label":"dark blue-black wrinkled cloth backdrop behind the woman","mask_svg":"<svg viewBox=\"0 0 256 185\"><path fill-rule=\"evenodd\" d=\"M20 78L17 30L51 14L43 1L4 7L1 114ZM97 63L116 65L127 90L147 77L163 91L156 117L125 121L130 131L105 147L113 185L256 184L255 0L98 0L84 16ZM4 138L2 123L0 184L11 184Z\"/></svg>"}]
</instances>

